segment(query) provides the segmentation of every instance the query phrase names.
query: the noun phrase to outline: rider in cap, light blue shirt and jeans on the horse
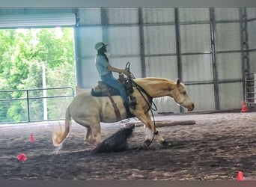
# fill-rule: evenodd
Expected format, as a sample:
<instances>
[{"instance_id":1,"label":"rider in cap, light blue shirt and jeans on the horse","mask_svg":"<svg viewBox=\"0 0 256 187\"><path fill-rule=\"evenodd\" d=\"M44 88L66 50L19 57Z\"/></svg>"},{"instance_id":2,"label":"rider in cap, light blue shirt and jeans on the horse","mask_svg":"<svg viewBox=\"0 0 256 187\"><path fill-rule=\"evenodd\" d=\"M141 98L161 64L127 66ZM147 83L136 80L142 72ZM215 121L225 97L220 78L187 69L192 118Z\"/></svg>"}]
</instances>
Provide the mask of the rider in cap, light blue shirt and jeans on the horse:
<instances>
[{"instance_id":1,"label":"rider in cap, light blue shirt and jeans on the horse","mask_svg":"<svg viewBox=\"0 0 256 187\"><path fill-rule=\"evenodd\" d=\"M120 95L124 100L125 108L127 109L127 112L129 112L129 99L127 96L127 91L124 88L124 85L119 82L118 79L115 79L112 72L124 73L126 76L131 76L131 73L129 73L127 70L112 67L112 65L109 64L109 58L106 56L107 45L108 44L105 44L103 42L95 44L94 48L97 50L97 55L95 58L96 68L98 73L100 74L101 80L120 92Z\"/></svg>"}]
</instances>

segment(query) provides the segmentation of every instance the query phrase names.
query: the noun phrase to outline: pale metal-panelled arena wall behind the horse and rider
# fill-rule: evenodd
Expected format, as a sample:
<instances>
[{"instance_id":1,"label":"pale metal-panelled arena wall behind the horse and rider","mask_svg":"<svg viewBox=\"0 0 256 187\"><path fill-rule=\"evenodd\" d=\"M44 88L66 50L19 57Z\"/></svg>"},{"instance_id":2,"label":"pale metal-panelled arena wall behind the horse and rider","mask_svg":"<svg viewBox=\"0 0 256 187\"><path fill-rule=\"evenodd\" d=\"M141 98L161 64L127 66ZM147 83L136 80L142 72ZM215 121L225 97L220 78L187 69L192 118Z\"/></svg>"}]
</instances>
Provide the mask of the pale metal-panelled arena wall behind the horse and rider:
<instances>
[{"instance_id":1,"label":"pale metal-panelled arena wall behind the horse and rider","mask_svg":"<svg viewBox=\"0 0 256 187\"><path fill-rule=\"evenodd\" d=\"M216 67L211 55L210 10L179 8L181 77L195 111L240 108L243 99L243 70L240 43L240 11L238 8L216 8ZM256 18L255 9L249 9ZM94 67L94 44L109 44L110 61L124 68L127 61L136 77L178 78L177 36L174 8L79 8L76 28L78 86L91 88L99 80ZM256 21L249 22L249 44L255 48ZM143 38L141 38L143 37ZM141 47L142 46L142 47ZM144 50L141 53L141 49ZM144 56L141 56L144 55ZM142 58L141 58L142 57ZM251 67L256 71L256 52L250 52ZM144 59L144 63L142 60ZM144 69L143 69L144 68ZM216 80L213 71L216 68ZM115 75L117 76L117 75ZM214 89L217 82L219 90ZM180 112L171 99L156 99L159 112Z\"/></svg>"}]
</instances>

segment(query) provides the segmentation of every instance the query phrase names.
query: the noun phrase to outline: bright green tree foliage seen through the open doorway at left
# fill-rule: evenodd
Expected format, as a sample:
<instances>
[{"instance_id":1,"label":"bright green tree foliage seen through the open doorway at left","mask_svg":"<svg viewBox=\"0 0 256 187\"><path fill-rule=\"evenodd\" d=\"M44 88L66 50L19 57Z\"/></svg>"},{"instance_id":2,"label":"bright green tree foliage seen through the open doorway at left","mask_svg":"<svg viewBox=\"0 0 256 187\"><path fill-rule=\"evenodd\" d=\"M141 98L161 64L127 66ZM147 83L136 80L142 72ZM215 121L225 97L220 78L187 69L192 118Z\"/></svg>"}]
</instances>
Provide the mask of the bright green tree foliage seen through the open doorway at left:
<instances>
[{"instance_id":1,"label":"bright green tree foliage seen through the open doorway at left","mask_svg":"<svg viewBox=\"0 0 256 187\"><path fill-rule=\"evenodd\" d=\"M42 88L42 64L46 64L47 88L75 87L73 28L31 28L0 30L0 99L25 98L22 89ZM48 93L47 93L48 94ZM53 94L53 93L52 93ZM29 96L43 96L42 91ZM60 102L60 101L58 101ZM67 107L50 99L49 116L60 117ZM43 120L43 99L29 102L31 120ZM61 116L64 117L64 116ZM0 123L28 120L25 100L0 102Z\"/></svg>"}]
</instances>

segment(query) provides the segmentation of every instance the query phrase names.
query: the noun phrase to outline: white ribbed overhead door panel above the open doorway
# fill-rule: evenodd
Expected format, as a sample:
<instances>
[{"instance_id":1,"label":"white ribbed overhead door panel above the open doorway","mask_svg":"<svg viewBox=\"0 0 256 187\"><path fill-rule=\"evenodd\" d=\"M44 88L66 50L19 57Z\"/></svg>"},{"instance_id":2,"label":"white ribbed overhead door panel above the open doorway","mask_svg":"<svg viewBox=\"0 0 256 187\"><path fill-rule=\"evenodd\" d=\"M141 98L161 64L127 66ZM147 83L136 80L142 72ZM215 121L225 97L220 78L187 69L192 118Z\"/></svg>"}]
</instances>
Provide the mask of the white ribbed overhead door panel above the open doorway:
<instances>
[{"instance_id":1,"label":"white ribbed overhead door panel above the open doorway","mask_svg":"<svg viewBox=\"0 0 256 187\"><path fill-rule=\"evenodd\" d=\"M0 28L60 27L76 25L75 13L0 15Z\"/></svg>"}]
</instances>

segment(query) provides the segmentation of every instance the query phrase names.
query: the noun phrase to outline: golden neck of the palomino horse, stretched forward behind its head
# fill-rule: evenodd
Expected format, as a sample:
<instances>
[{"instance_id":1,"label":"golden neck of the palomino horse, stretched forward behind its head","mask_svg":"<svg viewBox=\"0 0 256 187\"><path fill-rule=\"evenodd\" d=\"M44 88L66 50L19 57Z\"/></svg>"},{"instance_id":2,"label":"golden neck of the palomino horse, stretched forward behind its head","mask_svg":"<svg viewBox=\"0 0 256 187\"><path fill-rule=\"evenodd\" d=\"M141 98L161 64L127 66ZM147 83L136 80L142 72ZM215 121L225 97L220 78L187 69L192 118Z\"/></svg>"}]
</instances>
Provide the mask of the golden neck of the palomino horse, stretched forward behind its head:
<instances>
[{"instance_id":1,"label":"golden neck of the palomino horse, stretched forward behind its head","mask_svg":"<svg viewBox=\"0 0 256 187\"><path fill-rule=\"evenodd\" d=\"M161 78L141 78L135 79L135 82L153 98L170 96L171 90L176 86L176 82Z\"/></svg>"}]
</instances>

